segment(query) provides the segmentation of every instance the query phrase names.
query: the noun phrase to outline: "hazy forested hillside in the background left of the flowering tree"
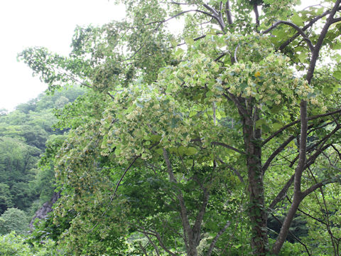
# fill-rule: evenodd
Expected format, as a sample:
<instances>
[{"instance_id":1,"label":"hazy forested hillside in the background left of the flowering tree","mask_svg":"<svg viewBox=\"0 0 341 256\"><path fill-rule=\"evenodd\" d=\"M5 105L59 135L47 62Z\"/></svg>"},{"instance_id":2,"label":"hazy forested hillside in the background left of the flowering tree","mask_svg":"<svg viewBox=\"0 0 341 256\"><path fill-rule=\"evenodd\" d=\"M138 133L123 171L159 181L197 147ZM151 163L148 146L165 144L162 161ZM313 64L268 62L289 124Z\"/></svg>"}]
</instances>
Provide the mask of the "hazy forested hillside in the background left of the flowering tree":
<instances>
[{"instance_id":1,"label":"hazy forested hillside in the background left of the flowering tree","mask_svg":"<svg viewBox=\"0 0 341 256\"><path fill-rule=\"evenodd\" d=\"M54 95L41 94L0 117L0 233L27 233L33 214L49 201L55 188L53 169L38 166L45 143L63 138L54 129L55 113L85 90L70 87Z\"/></svg>"}]
</instances>

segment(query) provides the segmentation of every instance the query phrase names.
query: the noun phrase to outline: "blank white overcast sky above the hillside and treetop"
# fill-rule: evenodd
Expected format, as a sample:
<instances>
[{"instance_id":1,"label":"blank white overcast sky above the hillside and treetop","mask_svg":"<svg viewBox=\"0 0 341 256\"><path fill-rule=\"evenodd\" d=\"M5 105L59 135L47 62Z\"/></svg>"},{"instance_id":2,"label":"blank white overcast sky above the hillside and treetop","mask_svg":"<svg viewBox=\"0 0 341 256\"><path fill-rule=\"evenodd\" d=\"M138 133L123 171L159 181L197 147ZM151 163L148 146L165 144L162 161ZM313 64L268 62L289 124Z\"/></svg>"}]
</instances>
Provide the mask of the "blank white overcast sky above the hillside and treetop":
<instances>
[{"instance_id":1,"label":"blank white overcast sky above the hillside and treetop","mask_svg":"<svg viewBox=\"0 0 341 256\"><path fill-rule=\"evenodd\" d=\"M303 0L305 6L316 0ZM44 46L67 55L76 25L102 25L124 16L124 7L108 0L3 0L0 5L0 110L13 110L47 85L16 61L24 48Z\"/></svg>"}]
</instances>

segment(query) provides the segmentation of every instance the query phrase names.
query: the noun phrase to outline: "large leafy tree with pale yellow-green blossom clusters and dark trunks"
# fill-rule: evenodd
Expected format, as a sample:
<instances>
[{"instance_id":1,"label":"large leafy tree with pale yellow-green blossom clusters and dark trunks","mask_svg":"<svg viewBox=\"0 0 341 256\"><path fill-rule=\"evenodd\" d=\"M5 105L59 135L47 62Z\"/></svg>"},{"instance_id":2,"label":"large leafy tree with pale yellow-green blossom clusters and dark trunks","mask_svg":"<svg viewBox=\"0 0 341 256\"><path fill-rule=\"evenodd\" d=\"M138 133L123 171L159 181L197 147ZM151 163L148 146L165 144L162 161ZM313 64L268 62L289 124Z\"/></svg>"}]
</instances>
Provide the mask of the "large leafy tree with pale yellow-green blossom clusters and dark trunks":
<instances>
[{"instance_id":1,"label":"large leafy tree with pale yellow-green blossom clusters and dark trunks","mask_svg":"<svg viewBox=\"0 0 341 256\"><path fill-rule=\"evenodd\" d=\"M278 255L299 215L340 255L341 0L122 2L128 18L77 28L68 58L20 54L49 90L89 87L59 113L70 136L52 150L60 241L84 255ZM291 235L298 255L320 246Z\"/></svg>"}]
</instances>

